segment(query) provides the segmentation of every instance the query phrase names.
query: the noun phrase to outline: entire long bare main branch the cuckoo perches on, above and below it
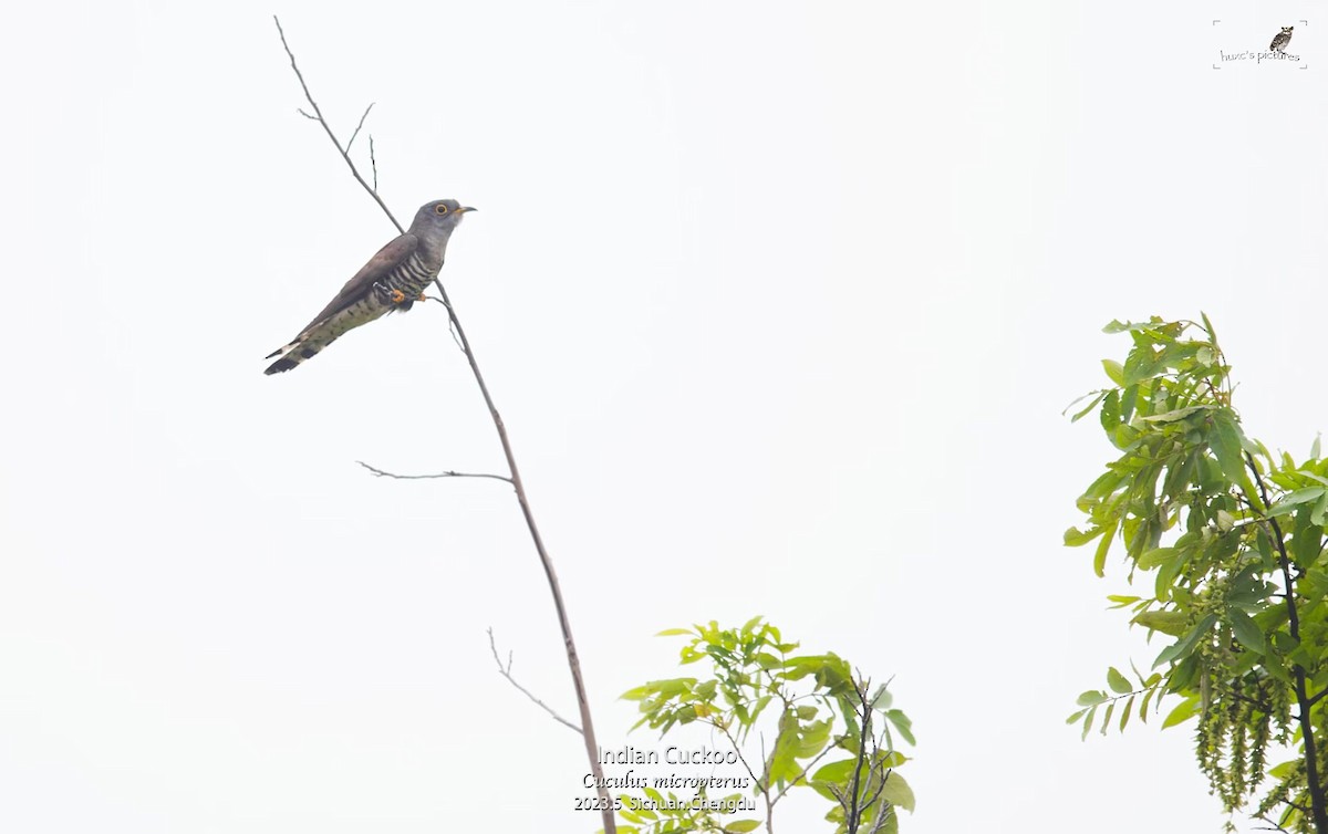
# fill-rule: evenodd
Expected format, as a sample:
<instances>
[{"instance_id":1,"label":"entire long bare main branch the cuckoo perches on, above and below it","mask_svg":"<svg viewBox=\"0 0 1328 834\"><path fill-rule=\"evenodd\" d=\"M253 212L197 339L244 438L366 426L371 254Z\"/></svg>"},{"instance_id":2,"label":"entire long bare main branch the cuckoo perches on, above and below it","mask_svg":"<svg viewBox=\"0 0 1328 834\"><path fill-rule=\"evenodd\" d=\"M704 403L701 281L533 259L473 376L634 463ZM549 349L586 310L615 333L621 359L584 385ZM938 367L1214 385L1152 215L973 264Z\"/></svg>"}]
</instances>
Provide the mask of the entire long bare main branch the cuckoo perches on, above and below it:
<instances>
[{"instance_id":1,"label":"entire long bare main branch the cuckoo perches on, above and below it","mask_svg":"<svg viewBox=\"0 0 1328 834\"><path fill-rule=\"evenodd\" d=\"M373 186L371 187L364 177L360 175L360 170L355 166L351 155L337 141L336 134L328 125L327 120L323 117L323 112L319 105L313 101L313 96L309 93L308 84L304 82L304 76L300 73L299 65L295 62L295 53L291 52L290 44L286 42L286 32L282 29L282 21L274 15L272 21L276 23L276 31L282 36L282 46L286 49L286 54L291 58L291 69L295 70L295 77L300 80L300 88L304 90L304 98L313 108L313 113L317 117L317 122L323 125L323 130L328 134L332 145L336 146L337 153L345 161L347 166L351 169L351 174L355 181L364 187L364 190L373 198L373 202L378 203L382 212L388 215L392 224L397 227L397 231L405 234L401 223L397 222L392 211L388 208L382 198L378 197L378 163L373 157L373 134L369 134L369 161L373 165ZM479 386L479 393L485 398L485 405L489 408L489 414L493 418L494 429L498 432L498 441L502 444L503 457L507 459L507 471L510 473L510 483L517 493L517 503L521 505L521 513L526 519L526 527L530 531L531 542L535 544L535 551L539 554L539 562L544 568L544 576L548 580L548 590L554 598L554 608L558 612L558 626L563 633L563 647L567 652L567 668L572 676L572 687L576 691L576 705L580 710L582 721L582 738L586 742L586 757L590 762L591 774L595 780L595 793L600 799L600 821L604 823L604 834L618 834L618 822L614 819L614 802L608 795L608 788L604 784L604 769L599 762L599 745L595 742L595 725L591 721L590 714L590 697L586 695L586 681L580 671L580 659L576 655L576 643L572 640L571 622L567 618L567 607L563 603L562 587L558 583L558 574L554 571L554 563L548 558L548 551L544 548L544 541L539 535L539 527L535 525L535 515L531 513L530 501L526 498L526 487L521 481L521 470L517 467L517 458L511 450L511 441L507 438L507 428L503 425L502 416L498 413L498 406L494 405L493 396L489 393L489 386L485 384L485 377L479 373L479 364L475 361L475 353L470 348L470 340L466 339L466 331L461 327L461 320L457 317L457 311L452 305L452 299L448 297L448 291L444 288L442 282L437 276L433 279L434 287L438 288L438 295L442 299L444 307L448 308L448 319L452 323L452 329L454 331L454 339L461 343L461 349L466 355L466 361L470 364L470 371L475 377L475 384Z\"/></svg>"}]
</instances>

